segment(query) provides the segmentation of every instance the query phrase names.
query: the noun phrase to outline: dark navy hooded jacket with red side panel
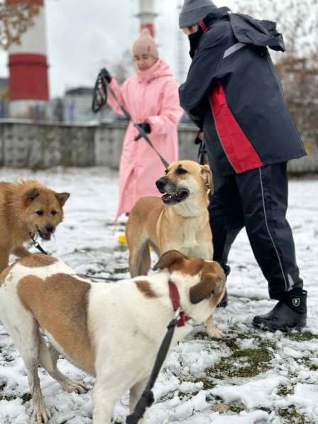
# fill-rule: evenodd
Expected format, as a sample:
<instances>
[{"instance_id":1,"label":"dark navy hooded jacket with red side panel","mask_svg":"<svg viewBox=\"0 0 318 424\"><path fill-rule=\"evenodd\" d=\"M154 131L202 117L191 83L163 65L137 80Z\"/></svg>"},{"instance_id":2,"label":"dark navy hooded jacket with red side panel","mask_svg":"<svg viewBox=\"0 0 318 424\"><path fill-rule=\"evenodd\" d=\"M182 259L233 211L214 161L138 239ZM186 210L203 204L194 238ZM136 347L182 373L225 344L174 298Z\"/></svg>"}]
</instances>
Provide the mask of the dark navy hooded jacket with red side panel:
<instances>
[{"instance_id":1,"label":"dark navy hooded jacket with red side panel","mask_svg":"<svg viewBox=\"0 0 318 424\"><path fill-rule=\"evenodd\" d=\"M267 49L285 50L275 23L223 7L204 18L190 43L195 53L180 104L203 129L216 175L306 155Z\"/></svg>"}]
</instances>

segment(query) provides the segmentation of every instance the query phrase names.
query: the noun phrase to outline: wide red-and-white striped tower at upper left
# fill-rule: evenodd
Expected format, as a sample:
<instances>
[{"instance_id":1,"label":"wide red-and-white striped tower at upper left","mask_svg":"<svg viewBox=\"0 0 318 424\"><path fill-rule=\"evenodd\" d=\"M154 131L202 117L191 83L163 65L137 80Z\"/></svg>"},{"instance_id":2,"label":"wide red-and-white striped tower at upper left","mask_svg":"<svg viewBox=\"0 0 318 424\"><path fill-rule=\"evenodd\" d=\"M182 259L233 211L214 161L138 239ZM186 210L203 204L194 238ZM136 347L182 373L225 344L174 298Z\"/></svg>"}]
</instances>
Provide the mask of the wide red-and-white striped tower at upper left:
<instances>
[{"instance_id":1,"label":"wide red-and-white striped tower at upper left","mask_svg":"<svg viewBox=\"0 0 318 424\"><path fill-rule=\"evenodd\" d=\"M25 116L45 108L49 99L44 0L29 0L40 6L38 15L21 36L20 44L9 48L10 116ZM19 0L6 0L18 4ZM34 112L33 112L34 114Z\"/></svg>"}]
</instances>

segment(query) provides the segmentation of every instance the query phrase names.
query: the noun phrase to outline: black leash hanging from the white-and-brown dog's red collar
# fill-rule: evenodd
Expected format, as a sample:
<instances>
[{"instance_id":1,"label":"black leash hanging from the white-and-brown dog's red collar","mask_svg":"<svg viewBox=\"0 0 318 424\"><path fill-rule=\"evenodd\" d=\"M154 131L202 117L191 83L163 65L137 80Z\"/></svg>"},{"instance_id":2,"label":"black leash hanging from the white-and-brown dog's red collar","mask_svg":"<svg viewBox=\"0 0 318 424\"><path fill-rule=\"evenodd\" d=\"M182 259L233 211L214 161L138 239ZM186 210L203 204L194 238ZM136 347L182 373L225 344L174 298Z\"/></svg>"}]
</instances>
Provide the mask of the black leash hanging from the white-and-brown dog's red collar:
<instances>
[{"instance_id":1,"label":"black leash hanging from the white-and-brown dog's red collar","mask_svg":"<svg viewBox=\"0 0 318 424\"><path fill-rule=\"evenodd\" d=\"M161 366L163 365L163 362L165 362L165 358L167 357L180 312L181 308L178 308L175 312L175 317L168 324L167 332L165 333L163 342L161 342L160 344L160 348L155 359L155 365L153 366L153 371L148 380L148 384L136 405L135 411L133 411L133 413L131 415L128 415L128 417L126 418L126 424L137 424L138 421L143 418L143 414L145 413L146 408L150 408L150 406L155 401L152 388L158 378Z\"/></svg>"}]
</instances>

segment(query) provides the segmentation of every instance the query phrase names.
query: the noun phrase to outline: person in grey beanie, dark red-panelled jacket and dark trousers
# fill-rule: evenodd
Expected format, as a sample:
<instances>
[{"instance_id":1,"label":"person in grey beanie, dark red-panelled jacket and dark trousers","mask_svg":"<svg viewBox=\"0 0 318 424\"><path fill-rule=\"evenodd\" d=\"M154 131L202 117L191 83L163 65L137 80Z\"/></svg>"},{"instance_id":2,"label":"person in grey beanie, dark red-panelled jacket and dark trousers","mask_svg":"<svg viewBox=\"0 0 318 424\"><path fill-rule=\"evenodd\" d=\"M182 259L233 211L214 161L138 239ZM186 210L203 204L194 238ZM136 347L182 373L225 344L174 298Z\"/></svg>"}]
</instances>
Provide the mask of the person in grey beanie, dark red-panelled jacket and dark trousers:
<instances>
[{"instance_id":1,"label":"person in grey beanie, dark red-panelled jacket and dark trousers","mask_svg":"<svg viewBox=\"0 0 318 424\"><path fill-rule=\"evenodd\" d=\"M179 21L192 57L180 104L204 133L214 175L214 260L229 273L231 244L246 227L270 298L278 300L267 315L253 318L253 326L303 327L307 292L285 214L287 161L306 153L268 53L268 47L285 51L283 36L275 23L217 8L211 0L185 0Z\"/></svg>"}]
</instances>

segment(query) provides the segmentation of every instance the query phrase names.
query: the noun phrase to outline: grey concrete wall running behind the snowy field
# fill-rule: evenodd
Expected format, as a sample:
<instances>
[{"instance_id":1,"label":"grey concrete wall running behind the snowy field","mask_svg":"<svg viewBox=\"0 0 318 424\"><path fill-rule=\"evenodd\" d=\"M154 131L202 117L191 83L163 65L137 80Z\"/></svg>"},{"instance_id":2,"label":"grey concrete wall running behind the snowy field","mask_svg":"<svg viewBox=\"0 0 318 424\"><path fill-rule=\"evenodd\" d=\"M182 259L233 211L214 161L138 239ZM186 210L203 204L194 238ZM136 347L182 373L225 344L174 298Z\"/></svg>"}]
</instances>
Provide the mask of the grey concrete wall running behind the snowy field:
<instances>
[{"instance_id":1,"label":"grey concrete wall running behind the snowy field","mask_svg":"<svg viewBox=\"0 0 318 424\"><path fill-rule=\"evenodd\" d=\"M91 126L35 124L0 120L0 165L13 168L106 165L118 169L126 122ZM180 159L197 158L194 126L179 127ZM288 164L291 173L318 172L317 143L307 143L309 155Z\"/></svg>"}]
</instances>

